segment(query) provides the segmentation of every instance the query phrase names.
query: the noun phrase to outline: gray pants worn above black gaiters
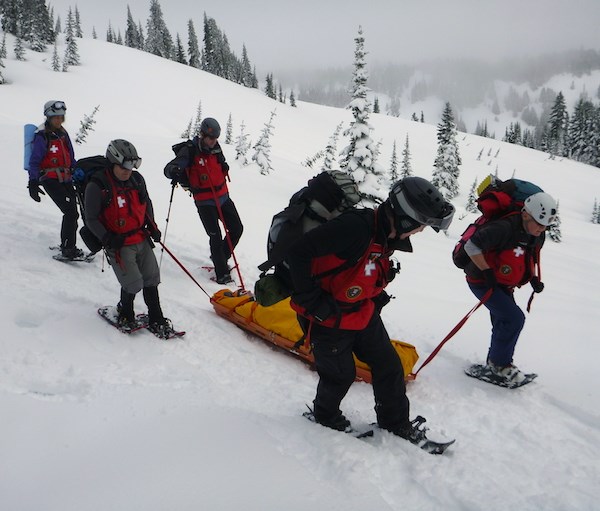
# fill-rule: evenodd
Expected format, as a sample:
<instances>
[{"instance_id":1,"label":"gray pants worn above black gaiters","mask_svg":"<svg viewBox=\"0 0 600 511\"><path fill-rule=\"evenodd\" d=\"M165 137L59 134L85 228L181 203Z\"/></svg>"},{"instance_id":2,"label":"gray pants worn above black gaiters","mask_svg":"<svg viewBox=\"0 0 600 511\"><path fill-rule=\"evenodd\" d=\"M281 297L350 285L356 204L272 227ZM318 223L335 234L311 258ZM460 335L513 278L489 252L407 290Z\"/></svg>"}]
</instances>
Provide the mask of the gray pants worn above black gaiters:
<instances>
[{"instance_id":1,"label":"gray pants worn above black gaiters","mask_svg":"<svg viewBox=\"0 0 600 511\"><path fill-rule=\"evenodd\" d=\"M144 287L160 283L160 270L149 240L121 248L118 260L114 250L106 252L117 280L128 293L135 295Z\"/></svg>"}]
</instances>

